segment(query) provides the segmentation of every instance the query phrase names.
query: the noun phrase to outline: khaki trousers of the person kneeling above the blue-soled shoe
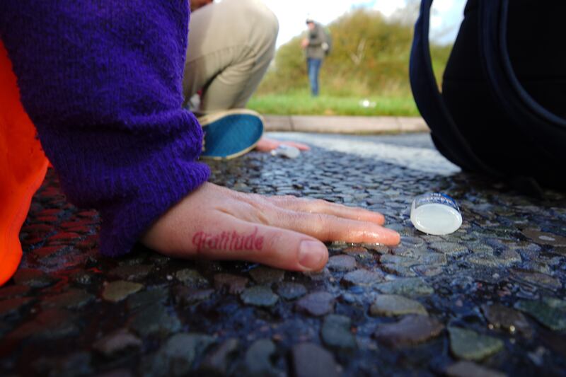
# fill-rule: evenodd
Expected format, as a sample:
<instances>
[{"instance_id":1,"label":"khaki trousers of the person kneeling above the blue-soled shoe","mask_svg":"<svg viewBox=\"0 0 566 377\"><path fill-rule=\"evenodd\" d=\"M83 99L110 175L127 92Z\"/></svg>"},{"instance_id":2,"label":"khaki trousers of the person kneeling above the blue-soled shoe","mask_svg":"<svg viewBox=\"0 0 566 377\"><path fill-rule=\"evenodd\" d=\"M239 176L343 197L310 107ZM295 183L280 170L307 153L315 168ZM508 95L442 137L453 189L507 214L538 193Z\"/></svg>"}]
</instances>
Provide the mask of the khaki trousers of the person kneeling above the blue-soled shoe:
<instances>
[{"instance_id":1,"label":"khaki trousers of the person kneeling above the blue-soled shoe","mask_svg":"<svg viewBox=\"0 0 566 377\"><path fill-rule=\"evenodd\" d=\"M260 0L223 0L190 16L185 103L204 90L200 112L244 108L275 54L279 23Z\"/></svg>"}]
</instances>

